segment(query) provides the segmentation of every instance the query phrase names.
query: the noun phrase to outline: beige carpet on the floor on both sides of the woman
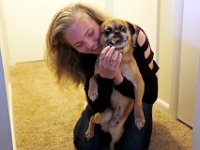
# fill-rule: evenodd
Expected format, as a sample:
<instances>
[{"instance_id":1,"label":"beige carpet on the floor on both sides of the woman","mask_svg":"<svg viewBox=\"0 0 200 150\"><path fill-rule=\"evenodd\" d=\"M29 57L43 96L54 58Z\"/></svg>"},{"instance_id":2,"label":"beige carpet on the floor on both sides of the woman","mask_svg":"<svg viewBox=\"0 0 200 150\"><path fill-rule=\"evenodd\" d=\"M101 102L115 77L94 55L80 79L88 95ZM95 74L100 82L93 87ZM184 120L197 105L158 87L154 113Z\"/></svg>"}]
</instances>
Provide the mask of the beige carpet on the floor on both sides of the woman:
<instances>
[{"instance_id":1,"label":"beige carpet on the floor on both sides of the woman","mask_svg":"<svg viewBox=\"0 0 200 150\"><path fill-rule=\"evenodd\" d=\"M82 87L61 92L43 61L10 69L17 150L73 150L73 126L82 111ZM150 150L190 150L192 130L154 107Z\"/></svg>"}]
</instances>

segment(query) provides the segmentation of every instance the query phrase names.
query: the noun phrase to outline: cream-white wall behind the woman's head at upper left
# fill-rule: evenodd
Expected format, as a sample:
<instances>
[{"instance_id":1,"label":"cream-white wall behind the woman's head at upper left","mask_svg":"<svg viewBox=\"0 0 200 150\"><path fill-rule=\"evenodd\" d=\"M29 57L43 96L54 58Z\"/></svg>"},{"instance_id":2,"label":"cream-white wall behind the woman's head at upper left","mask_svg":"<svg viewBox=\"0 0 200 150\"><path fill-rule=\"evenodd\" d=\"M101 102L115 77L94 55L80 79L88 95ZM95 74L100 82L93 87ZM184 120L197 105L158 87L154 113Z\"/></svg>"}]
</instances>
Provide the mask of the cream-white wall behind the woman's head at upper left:
<instances>
[{"instance_id":1,"label":"cream-white wall behind the woman's head at upper left","mask_svg":"<svg viewBox=\"0 0 200 150\"><path fill-rule=\"evenodd\" d=\"M44 57L45 36L54 14L66 4L77 0L2 0L9 61L41 60ZM104 7L104 1L78 0Z\"/></svg>"}]
</instances>

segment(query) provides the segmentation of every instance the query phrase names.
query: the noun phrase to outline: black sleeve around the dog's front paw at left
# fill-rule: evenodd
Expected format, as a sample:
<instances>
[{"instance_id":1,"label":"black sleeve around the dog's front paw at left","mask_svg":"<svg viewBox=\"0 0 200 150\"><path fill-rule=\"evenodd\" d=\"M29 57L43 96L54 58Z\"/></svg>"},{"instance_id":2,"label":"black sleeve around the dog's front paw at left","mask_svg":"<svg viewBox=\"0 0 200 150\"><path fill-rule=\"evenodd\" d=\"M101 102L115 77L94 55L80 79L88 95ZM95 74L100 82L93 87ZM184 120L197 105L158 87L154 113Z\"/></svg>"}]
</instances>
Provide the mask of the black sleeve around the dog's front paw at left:
<instances>
[{"instance_id":1,"label":"black sleeve around the dog's front paw at left","mask_svg":"<svg viewBox=\"0 0 200 150\"><path fill-rule=\"evenodd\" d=\"M110 106L110 98L113 90L113 80L102 78L98 75L97 77L98 84L98 98L93 102L88 97L88 89L89 89L89 80L85 85L85 91L87 95L87 100L90 106L93 108L95 112L102 112L107 107Z\"/></svg>"}]
</instances>

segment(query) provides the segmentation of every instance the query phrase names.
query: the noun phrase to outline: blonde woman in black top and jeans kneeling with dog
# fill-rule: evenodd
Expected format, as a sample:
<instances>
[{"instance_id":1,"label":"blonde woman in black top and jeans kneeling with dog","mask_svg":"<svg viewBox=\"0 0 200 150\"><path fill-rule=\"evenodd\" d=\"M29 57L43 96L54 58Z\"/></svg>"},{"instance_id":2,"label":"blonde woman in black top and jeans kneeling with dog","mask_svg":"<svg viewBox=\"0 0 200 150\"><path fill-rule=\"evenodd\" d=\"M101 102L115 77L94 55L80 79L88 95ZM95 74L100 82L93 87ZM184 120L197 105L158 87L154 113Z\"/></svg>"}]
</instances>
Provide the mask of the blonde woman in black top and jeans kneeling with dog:
<instances>
[{"instance_id":1,"label":"blonde woman in black top and jeans kneeling with dog","mask_svg":"<svg viewBox=\"0 0 200 150\"><path fill-rule=\"evenodd\" d=\"M121 54L114 51L114 47L107 46L101 49L99 46L99 27L107 18L92 7L80 3L71 4L54 16L46 36L46 61L61 85L64 84L63 79L71 79L77 85L84 84L87 95L97 55L101 58L97 79L98 98L93 102L87 96L88 105L74 128L74 145L80 150L108 147L110 135L104 133L100 126L95 126L95 135L89 141L85 138L85 132L91 115L110 106L113 87L134 99L134 86L119 70ZM148 149L152 133L152 106L158 94L158 65L153 60L153 51L145 32L137 25L134 27L137 39L133 56L145 82L143 111L146 124L139 130L135 126L132 111L126 121L124 134L116 144L116 148L120 150Z\"/></svg>"}]
</instances>

